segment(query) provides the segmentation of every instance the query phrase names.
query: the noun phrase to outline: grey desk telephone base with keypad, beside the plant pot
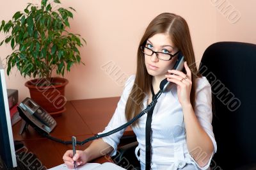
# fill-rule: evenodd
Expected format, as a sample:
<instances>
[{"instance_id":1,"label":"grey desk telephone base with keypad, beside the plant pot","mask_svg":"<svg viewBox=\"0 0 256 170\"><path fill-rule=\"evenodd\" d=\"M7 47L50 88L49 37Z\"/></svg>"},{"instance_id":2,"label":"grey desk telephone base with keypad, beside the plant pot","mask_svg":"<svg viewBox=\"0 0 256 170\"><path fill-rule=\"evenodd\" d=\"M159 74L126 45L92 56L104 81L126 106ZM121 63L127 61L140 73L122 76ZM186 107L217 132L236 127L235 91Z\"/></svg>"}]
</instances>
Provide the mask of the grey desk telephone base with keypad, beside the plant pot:
<instances>
[{"instance_id":1,"label":"grey desk telephone base with keypad, beside the plant pot","mask_svg":"<svg viewBox=\"0 0 256 170\"><path fill-rule=\"evenodd\" d=\"M20 117L36 130L49 134L57 123L52 116L31 98L25 98L17 107ZM23 127L24 128L24 127ZM22 129L23 131L23 129ZM22 132L20 132L21 134Z\"/></svg>"}]
</instances>

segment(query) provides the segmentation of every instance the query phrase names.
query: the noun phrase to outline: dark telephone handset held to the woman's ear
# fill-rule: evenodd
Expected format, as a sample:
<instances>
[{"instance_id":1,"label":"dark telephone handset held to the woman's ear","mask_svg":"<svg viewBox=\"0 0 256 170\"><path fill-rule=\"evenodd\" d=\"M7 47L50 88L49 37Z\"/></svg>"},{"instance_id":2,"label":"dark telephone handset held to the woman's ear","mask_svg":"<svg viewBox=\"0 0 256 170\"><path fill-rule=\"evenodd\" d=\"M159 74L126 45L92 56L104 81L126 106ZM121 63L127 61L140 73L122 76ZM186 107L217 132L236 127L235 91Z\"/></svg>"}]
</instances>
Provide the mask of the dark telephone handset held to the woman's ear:
<instances>
[{"instance_id":1,"label":"dark telephone handset held to the woman's ear","mask_svg":"<svg viewBox=\"0 0 256 170\"><path fill-rule=\"evenodd\" d=\"M173 66L173 70L182 71L184 68L184 62L185 62L184 56L183 56L182 52L179 52L178 59L177 59L175 65ZM163 81L161 81L160 89L163 91L163 93L166 93L166 92L170 91L171 85L172 85L171 82L167 81L167 79L164 79Z\"/></svg>"}]
</instances>

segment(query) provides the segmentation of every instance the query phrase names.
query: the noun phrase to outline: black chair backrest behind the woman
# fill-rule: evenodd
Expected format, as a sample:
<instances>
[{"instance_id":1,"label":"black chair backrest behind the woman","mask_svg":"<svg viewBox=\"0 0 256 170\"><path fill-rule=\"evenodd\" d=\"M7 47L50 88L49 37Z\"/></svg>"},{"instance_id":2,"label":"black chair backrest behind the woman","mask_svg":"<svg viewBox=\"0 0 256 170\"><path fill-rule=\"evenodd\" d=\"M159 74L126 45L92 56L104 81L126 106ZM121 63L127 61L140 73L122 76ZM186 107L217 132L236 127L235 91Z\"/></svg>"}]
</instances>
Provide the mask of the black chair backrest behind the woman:
<instances>
[{"instance_id":1,"label":"black chair backrest behind the woman","mask_svg":"<svg viewBox=\"0 0 256 170\"><path fill-rule=\"evenodd\" d=\"M212 126L218 149L211 166L234 169L255 163L256 45L214 43L205 50L199 71L212 88Z\"/></svg>"}]
</instances>

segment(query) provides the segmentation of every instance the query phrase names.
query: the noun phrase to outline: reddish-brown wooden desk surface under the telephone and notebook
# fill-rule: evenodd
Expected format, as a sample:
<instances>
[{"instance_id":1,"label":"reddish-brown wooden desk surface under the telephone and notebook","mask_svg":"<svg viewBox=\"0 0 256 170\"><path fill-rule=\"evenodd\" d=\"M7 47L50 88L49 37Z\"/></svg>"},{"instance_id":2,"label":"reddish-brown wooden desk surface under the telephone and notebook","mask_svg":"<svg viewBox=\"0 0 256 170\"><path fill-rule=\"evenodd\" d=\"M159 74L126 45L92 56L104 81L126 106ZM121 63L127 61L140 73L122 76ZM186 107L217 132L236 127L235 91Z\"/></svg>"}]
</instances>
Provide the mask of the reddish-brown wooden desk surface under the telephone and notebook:
<instances>
[{"instance_id":1,"label":"reddish-brown wooden desk surface under the telephone and notebook","mask_svg":"<svg viewBox=\"0 0 256 170\"><path fill-rule=\"evenodd\" d=\"M67 111L61 116L55 117L56 128L51 132L52 137L58 137L65 141L70 141L72 135L77 137L77 141L83 141L92 137L98 132L102 132L108 125L113 112L115 112L117 102L120 97L97 98L86 100L72 100L67 102ZM47 168L63 164L63 154L71 150L71 145L56 143L38 135L29 126L28 130L19 135L20 123L13 126L13 138L22 141L29 151L34 153ZM133 135L131 128L125 130L124 135ZM77 150L84 150L90 143L77 146ZM92 162L109 162L111 158L100 157Z\"/></svg>"}]
</instances>

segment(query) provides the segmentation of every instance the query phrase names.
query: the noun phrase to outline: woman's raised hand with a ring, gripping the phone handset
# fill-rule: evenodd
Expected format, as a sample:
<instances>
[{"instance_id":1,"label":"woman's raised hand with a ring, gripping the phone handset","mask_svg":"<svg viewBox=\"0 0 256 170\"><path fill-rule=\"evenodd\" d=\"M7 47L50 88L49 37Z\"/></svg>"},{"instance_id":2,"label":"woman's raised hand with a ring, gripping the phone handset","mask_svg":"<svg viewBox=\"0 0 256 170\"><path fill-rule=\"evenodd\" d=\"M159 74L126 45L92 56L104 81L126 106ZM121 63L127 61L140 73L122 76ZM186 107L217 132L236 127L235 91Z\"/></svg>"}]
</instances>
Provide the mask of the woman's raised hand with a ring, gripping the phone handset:
<instances>
[{"instance_id":1,"label":"woman's raised hand with a ring, gripping the phone handset","mask_svg":"<svg viewBox=\"0 0 256 170\"><path fill-rule=\"evenodd\" d=\"M180 72L179 70L168 70L168 75L165 75L167 81L177 84L177 94L179 102L182 106L191 104L190 91L192 86L191 70L188 67L187 61L184 63L187 74ZM173 73L173 75L171 75Z\"/></svg>"}]
</instances>

